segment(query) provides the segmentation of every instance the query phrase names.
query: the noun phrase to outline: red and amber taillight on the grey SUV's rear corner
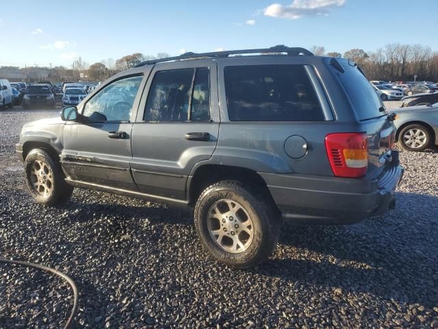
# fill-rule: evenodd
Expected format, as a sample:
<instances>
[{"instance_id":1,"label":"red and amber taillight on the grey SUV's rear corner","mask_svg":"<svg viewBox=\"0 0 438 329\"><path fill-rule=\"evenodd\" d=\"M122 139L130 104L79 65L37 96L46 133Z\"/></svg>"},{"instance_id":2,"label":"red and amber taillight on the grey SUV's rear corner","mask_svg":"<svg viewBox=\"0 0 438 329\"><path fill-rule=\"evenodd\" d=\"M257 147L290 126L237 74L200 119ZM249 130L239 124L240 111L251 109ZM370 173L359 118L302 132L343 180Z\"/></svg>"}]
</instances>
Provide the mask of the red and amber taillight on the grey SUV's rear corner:
<instances>
[{"instance_id":1,"label":"red and amber taillight on the grey SUV's rear corner","mask_svg":"<svg viewBox=\"0 0 438 329\"><path fill-rule=\"evenodd\" d=\"M359 178L367 173L368 142L365 132L328 134L326 151L335 176Z\"/></svg>"}]
</instances>

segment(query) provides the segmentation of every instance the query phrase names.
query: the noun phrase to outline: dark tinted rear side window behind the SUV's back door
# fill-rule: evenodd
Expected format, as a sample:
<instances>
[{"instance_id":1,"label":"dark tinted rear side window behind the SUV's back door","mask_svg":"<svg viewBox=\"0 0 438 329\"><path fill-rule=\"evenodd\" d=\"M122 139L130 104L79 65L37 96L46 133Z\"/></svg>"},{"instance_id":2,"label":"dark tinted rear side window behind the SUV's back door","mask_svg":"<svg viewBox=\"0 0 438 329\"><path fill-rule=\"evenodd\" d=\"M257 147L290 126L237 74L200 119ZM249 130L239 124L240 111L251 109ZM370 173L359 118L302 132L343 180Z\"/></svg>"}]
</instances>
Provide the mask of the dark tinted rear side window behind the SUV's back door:
<instances>
[{"instance_id":1,"label":"dark tinted rear side window behind the SUV's back door","mask_svg":"<svg viewBox=\"0 0 438 329\"><path fill-rule=\"evenodd\" d=\"M230 121L325 121L302 65L224 68Z\"/></svg>"}]
</instances>

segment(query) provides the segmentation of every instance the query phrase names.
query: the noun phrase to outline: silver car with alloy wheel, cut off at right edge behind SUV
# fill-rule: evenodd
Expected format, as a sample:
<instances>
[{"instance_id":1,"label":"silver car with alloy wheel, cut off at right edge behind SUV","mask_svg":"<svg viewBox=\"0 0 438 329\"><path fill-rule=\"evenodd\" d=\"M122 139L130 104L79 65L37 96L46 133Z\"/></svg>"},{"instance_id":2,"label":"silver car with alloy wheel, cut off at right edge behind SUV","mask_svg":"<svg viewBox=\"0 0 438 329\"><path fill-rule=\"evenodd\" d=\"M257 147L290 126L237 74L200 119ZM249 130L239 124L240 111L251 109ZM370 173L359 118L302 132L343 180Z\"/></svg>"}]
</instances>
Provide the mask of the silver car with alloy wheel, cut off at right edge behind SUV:
<instances>
[{"instance_id":1,"label":"silver car with alloy wheel, cut off at right edge behind SUV","mask_svg":"<svg viewBox=\"0 0 438 329\"><path fill-rule=\"evenodd\" d=\"M438 145L438 103L396 108L391 113L396 114L396 137L404 149L423 151Z\"/></svg>"}]
</instances>

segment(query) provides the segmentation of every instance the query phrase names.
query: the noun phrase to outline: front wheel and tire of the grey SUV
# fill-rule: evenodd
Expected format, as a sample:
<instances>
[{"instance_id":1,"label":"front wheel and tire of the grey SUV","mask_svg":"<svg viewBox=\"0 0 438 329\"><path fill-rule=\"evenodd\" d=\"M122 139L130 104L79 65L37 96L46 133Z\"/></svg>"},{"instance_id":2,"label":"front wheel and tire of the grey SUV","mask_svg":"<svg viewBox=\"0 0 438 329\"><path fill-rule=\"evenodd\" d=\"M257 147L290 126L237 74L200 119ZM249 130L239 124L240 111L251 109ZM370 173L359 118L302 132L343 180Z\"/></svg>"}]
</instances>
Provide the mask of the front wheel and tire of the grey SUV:
<instances>
[{"instance_id":1,"label":"front wheel and tire of the grey SUV","mask_svg":"<svg viewBox=\"0 0 438 329\"><path fill-rule=\"evenodd\" d=\"M44 149L32 149L27 154L25 173L27 188L38 204L63 204L73 193L73 187L64 180L60 163L55 162Z\"/></svg>"}]
</instances>

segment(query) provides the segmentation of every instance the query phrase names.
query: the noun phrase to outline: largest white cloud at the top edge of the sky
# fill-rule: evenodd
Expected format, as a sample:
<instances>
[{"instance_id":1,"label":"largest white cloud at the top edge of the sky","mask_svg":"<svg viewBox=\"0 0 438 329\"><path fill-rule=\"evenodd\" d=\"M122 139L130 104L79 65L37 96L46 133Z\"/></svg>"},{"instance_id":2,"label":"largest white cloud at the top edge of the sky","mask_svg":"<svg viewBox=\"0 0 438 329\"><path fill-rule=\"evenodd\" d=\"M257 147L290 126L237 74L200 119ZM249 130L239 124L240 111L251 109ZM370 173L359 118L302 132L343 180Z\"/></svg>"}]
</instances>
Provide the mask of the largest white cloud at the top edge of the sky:
<instances>
[{"instance_id":1,"label":"largest white cloud at the top edge of the sky","mask_svg":"<svg viewBox=\"0 0 438 329\"><path fill-rule=\"evenodd\" d=\"M290 5L272 3L263 10L265 16L282 19L300 19L302 16L327 16L333 8L341 7L346 0L294 0Z\"/></svg>"}]
</instances>

